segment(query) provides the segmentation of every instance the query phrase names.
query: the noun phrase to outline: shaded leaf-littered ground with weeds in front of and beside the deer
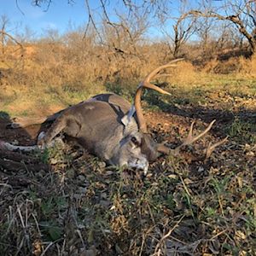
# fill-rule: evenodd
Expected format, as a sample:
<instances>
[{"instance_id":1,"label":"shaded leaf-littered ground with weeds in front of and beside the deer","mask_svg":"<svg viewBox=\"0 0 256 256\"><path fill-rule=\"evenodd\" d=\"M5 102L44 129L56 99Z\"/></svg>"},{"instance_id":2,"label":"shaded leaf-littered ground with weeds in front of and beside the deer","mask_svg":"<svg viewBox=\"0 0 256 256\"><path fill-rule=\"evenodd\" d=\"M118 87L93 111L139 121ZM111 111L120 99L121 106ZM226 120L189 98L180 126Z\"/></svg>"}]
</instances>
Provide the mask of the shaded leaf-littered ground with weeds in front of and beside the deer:
<instances>
[{"instance_id":1,"label":"shaded leaf-littered ground with weeds in front of and beside the deer","mask_svg":"<svg viewBox=\"0 0 256 256\"><path fill-rule=\"evenodd\" d=\"M146 119L154 138L172 147L193 120L195 132L217 122L180 157L160 157L147 177L68 144L43 154L0 150L1 255L253 255L256 146L236 132L255 124L255 112L176 104L148 108ZM42 129L5 129L8 122L0 119L0 139L12 143L31 145ZM205 160L207 143L227 133Z\"/></svg>"}]
</instances>

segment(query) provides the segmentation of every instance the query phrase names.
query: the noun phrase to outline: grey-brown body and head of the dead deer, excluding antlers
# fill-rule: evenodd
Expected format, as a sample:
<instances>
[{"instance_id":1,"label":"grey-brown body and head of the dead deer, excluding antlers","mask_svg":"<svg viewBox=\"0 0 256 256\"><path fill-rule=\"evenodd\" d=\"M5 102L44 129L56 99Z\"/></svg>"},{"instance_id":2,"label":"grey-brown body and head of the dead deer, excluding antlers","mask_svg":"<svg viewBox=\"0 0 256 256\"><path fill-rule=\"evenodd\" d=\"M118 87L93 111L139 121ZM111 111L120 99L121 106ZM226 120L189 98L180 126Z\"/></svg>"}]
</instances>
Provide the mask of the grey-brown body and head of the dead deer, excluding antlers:
<instances>
[{"instance_id":1,"label":"grey-brown body and head of the dead deer, excluding antlers","mask_svg":"<svg viewBox=\"0 0 256 256\"><path fill-rule=\"evenodd\" d=\"M121 96L94 96L62 110L38 144L47 147L63 131L110 165L134 167L146 172L148 158L139 147L143 134L139 132L135 117L128 117L130 109L131 104Z\"/></svg>"}]
</instances>

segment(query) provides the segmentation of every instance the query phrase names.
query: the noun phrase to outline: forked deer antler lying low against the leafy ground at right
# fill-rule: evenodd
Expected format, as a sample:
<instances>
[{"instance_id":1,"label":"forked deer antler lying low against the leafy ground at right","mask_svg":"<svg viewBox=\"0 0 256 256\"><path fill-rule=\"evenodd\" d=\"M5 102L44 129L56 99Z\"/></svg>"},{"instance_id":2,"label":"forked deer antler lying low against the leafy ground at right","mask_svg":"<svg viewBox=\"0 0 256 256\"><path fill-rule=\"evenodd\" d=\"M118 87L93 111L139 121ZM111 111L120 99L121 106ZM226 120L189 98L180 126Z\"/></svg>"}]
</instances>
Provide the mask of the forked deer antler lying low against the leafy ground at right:
<instances>
[{"instance_id":1,"label":"forked deer antler lying low against the leafy ground at right","mask_svg":"<svg viewBox=\"0 0 256 256\"><path fill-rule=\"evenodd\" d=\"M199 135L197 136L193 136L193 127L194 127L194 124L195 124L195 121L190 125L190 128L189 128L189 135L188 137L186 137L184 140L183 140L183 143L181 145L179 145L177 148L168 148L166 147L163 143L160 143L157 147L157 151L160 152L160 153L163 153L163 154L173 154L173 155L177 155L179 154L179 150L180 148L182 148L183 146L186 146L186 145L190 145L192 143L195 143L197 140L199 140L201 137L205 136L207 134L208 131L211 130L212 128L212 125L214 124L216 120L213 120L210 125L207 126L207 129L205 131L202 131ZM225 143L226 141L228 140L228 137L225 137L223 140L221 140L220 142L218 143L214 143L214 144L211 144L209 143L208 147L207 147L207 150L206 150L206 159L212 154L213 150L215 148L217 148L219 145Z\"/></svg>"}]
</instances>

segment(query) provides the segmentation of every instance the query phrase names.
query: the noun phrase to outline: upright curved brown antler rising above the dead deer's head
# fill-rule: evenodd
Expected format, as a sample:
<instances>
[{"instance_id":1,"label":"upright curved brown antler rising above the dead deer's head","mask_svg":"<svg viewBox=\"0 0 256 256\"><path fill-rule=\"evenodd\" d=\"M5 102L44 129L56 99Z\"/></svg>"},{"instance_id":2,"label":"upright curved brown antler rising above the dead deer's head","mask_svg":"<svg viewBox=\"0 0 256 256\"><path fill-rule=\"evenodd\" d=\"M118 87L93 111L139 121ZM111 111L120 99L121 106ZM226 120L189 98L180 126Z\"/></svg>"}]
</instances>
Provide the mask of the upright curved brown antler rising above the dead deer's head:
<instances>
[{"instance_id":1,"label":"upright curved brown antler rising above the dead deer's head","mask_svg":"<svg viewBox=\"0 0 256 256\"><path fill-rule=\"evenodd\" d=\"M176 67L176 65L173 65L173 63L176 63L177 61L183 61L183 58L173 60L166 65L155 68L151 73L149 73L147 75L147 77L139 84L139 86L137 88L136 95L134 98L134 105L136 108L138 126L139 126L140 131L142 131L143 133L148 133L147 124L146 124L146 121L143 116L143 108L142 108L142 104L141 104L143 88L156 90L162 94L170 95L170 93L167 92L166 90L162 90L160 87L158 87L154 84L150 84L150 80L153 79L161 70L163 70L167 67Z\"/></svg>"}]
</instances>

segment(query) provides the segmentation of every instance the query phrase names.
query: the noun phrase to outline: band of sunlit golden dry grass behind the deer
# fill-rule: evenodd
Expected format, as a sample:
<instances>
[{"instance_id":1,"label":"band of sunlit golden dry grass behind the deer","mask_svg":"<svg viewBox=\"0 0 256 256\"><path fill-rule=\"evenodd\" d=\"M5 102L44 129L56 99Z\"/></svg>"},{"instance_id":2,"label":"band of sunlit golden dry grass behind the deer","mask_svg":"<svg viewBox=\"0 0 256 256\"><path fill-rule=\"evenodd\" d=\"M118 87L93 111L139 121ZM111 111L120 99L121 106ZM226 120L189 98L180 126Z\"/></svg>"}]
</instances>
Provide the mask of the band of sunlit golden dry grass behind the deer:
<instances>
[{"instance_id":1,"label":"band of sunlit golden dry grass behind the deer","mask_svg":"<svg viewBox=\"0 0 256 256\"><path fill-rule=\"evenodd\" d=\"M1 70L0 107L12 116L20 116L38 114L42 105L42 114L49 114L49 106L54 106L52 109L65 108L68 104L105 91L131 99L138 82L154 67L163 64L162 49L159 45L155 47L145 47L142 56L138 57L114 55L106 49L86 48L81 54L80 48L72 51L55 44L29 45L21 61L18 56L15 60L9 56L2 61L3 64L9 62L10 68L5 66ZM170 60L166 58L167 61ZM169 79L154 82L168 81L173 84L171 90L180 95L186 93L188 98L193 98L197 91L201 100L201 94L207 93L209 86L211 90L213 86L215 90L225 86L225 90L242 94L244 90L236 83L241 79L251 83L248 86L253 92L254 62L255 57L251 60L231 58L229 61L210 61L198 71L189 61L182 61L168 71L171 75Z\"/></svg>"}]
</instances>

